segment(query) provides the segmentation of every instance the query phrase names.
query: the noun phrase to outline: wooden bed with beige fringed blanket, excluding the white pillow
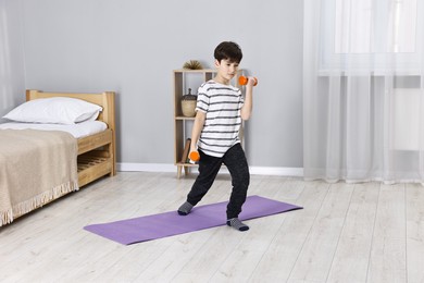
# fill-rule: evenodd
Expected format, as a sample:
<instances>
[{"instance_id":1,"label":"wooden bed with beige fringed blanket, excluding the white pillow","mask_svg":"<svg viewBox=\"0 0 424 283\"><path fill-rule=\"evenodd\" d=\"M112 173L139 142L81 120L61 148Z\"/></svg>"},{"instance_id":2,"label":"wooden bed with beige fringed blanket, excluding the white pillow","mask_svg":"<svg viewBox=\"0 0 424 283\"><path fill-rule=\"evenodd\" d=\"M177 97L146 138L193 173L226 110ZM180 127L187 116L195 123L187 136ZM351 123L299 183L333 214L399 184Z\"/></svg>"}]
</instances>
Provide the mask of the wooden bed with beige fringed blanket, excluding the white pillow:
<instances>
[{"instance_id":1,"label":"wooden bed with beige fringed blanket, excluding the white pillow","mask_svg":"<svg viewBox=\"0 0 424 283\"><path fill-rule=\"evenodd\" d=\"M63 125L97 125L93 132L84 130L76 136L75 130L64 132L58 125L43 130L39 123L33 123L34 128L12 125L14 121L0 124L0 226L100 177L115 175L114 96L113 91L26 91L27 101L72 98L100 106L101 111L92 121Z\"/></svg>"}]
</instances>

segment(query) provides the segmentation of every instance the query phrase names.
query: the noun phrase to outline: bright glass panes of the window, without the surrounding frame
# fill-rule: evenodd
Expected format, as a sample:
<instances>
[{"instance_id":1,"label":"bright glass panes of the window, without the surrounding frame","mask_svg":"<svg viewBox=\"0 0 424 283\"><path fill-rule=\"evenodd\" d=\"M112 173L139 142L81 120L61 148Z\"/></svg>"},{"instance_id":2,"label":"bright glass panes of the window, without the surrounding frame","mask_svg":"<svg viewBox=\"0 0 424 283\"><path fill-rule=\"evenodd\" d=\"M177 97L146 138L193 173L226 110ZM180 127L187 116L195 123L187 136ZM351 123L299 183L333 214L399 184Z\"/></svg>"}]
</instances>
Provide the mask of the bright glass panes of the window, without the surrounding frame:
<instances>
[{"instance_id":1,"label":"bright glass panes of the window, without the surrounding frame","mask_svg":"<svg viewBox=\"0 0 424 283\"><path fill-rule=\"evenodd\" d=\"M335 53L412 53L416 0L336 0Z\"/></svg>"}]
</instances>

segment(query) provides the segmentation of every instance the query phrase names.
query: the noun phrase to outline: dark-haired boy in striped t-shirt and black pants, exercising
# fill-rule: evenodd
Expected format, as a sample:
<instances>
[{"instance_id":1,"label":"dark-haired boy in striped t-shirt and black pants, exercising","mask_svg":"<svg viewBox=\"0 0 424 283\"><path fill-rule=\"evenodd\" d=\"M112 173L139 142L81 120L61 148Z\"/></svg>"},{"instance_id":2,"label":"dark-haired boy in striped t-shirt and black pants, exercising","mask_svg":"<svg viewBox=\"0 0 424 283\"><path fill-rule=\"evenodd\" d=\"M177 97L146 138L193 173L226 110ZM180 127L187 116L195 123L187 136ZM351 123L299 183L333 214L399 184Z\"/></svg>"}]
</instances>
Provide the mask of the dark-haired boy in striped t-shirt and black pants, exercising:
<instances>
[{"instance_id":1,"label":"dark-haired boy in striped t-shirt and black pants, exercising","mask_svg":"<svg viewBox=\"0 0 424 283\"><path fill-rule=\"evenodd\" d=\"M232 41L221 42L214 51L216 76L199 87L196 119L191 132L191 151L199 151L199 175L178 208L180 216L187 216L212 186L224 163L230 175L233 192L227 206L227 225L238 231L249 226L238 219L246 201L250 182L249 167L240 146L238 132L241 120L248 120L252 112L254 78L249 77L246 97L240 89L232 86L230 79L237 74L242 53Z\"/></svg>"}]
</instances>

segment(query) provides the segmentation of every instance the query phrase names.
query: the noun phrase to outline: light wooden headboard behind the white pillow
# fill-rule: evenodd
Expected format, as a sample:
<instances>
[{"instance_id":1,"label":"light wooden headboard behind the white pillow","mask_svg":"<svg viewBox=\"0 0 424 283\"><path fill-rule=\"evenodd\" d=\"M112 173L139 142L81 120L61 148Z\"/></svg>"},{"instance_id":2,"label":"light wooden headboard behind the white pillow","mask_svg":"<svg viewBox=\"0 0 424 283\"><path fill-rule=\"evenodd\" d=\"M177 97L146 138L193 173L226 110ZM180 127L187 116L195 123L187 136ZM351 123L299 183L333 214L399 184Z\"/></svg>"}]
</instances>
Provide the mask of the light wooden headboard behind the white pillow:
<instances>
[{"instance_id":1,"label":"light wooden headboard behind the white pillow","mask_svg":"<svg viewBox=\"0 0 424 283\"><path fill-rule=\"evenodd\" d=\"M43 93L40 90L27 89L26 101L38 98L71 97L82 99L103 108L98 120L108 124L108 127L115 132L115 93L104 91L101 94L73 94L73 93Z\"/></svg>"}]
</instances>

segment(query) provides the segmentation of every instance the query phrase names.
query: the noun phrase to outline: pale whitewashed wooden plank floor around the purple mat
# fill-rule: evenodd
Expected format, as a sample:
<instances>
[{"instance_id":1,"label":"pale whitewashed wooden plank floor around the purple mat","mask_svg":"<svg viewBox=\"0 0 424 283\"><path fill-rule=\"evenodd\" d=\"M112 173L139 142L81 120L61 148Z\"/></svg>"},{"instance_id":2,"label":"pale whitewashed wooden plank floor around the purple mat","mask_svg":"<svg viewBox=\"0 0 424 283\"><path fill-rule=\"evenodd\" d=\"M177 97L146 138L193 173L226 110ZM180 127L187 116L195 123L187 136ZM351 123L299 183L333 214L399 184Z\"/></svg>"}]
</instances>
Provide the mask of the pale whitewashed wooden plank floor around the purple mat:
<instances>
[{"instance_id":1,"label":"pale whitewashed wooden plank floor around the purple mat","mask_svg":"<svg viewBox=\"0 0 424 283\"><path fill-rule=\"evenodd\" d=\"M176 210L194 177L119 173L0 227L0 282L424 282L424 187L252 175L304 207L123 246L83 227ZM220 175L201 205L228 199Z\"/></svg>"}]
</instances>

